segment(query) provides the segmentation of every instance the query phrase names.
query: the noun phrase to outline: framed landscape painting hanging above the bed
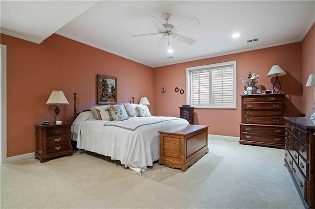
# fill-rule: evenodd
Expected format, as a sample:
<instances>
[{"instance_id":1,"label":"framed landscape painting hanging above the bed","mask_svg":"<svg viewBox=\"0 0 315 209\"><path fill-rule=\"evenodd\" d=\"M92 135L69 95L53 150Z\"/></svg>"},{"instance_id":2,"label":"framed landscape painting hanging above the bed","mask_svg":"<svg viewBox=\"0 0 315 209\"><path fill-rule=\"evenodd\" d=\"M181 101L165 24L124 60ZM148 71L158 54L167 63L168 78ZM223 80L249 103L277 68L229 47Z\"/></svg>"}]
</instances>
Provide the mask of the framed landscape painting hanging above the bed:
<instances>
[{"instance_id":1,"label":"framed landscape painting hanging above the bed","mask_svg":"<svg viewBox=\"0 0 315 209\"><path fill-rule=\"evenodd\" d=\"M97 75L97 104L117 104L117 78Z\"/></svg>"}]
</instances>

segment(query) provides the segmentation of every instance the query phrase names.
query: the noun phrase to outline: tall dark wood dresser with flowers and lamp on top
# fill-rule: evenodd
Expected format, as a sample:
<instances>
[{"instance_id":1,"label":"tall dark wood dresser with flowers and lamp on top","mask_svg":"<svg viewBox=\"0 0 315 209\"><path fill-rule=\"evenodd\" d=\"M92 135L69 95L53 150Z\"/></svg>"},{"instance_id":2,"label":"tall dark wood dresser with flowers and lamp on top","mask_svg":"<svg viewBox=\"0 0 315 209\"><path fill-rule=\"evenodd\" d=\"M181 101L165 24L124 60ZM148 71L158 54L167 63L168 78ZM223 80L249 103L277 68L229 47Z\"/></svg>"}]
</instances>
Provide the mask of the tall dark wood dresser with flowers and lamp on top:
<instances>
[{"instance_id":1,"label":"tall dark wood dresser with flowers and lamp on top","mask_svg":"<svg viewBox=\"0 0 315 209\"><path fill-rule=\"evenodd\" d=\"M240 144L284 149L285 94L242 97Z\"/></svg>"}]
</instances>

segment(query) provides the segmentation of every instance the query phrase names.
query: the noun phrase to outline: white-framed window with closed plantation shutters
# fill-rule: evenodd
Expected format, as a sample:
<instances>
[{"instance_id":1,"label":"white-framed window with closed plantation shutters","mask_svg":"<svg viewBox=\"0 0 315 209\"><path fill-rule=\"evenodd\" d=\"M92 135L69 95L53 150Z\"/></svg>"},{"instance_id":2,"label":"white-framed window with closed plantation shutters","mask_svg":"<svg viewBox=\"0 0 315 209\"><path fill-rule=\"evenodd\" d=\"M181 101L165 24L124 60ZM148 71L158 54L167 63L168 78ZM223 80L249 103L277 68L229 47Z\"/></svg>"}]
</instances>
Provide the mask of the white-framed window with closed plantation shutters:
<instances>
[{"instance_id":1,"label":"white-framed window with closed plantation shutters","mask_svg":"<svg viewBox=\"0 0 315 209\"><path fill-rule=\"evenodd\" d=\"M236 108L236 61L186 69L187 104L195 108Z\"/></svg>"}]
</instances>

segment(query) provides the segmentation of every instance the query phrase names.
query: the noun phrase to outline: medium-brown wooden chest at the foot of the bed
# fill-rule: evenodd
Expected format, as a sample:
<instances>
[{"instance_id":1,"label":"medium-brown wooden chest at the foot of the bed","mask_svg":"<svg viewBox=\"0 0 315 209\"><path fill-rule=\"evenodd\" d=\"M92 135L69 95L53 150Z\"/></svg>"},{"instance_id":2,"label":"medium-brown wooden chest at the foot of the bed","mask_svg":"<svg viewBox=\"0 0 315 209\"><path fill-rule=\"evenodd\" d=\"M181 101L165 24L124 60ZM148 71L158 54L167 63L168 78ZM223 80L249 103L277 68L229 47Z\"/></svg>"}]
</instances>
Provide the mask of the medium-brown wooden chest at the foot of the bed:
<instances>
[{"instance_id":1,"label":"medium-brown wooden chest at the foot of the bed","mask_svg":"<svg viewBox=\"0 0 315 209\"><path fill-rule=\"evenodd\" d=\"M170 168L185 172L209 152L208 126L185 125L159 132L159 160Z\"/></svg>"}]
</instances>

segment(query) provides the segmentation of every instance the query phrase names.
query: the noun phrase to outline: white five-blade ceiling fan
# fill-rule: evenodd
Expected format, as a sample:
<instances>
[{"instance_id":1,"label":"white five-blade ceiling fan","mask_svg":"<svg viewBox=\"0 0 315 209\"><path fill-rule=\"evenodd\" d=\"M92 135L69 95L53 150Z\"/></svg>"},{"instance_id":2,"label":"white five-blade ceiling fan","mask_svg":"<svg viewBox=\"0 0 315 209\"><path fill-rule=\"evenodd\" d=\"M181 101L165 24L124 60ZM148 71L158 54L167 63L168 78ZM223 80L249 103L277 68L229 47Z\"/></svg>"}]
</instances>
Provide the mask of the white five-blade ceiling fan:
<instances>
[{"instance_id":1,"label":"white five-blade ceiling fan","mask_svg":"<svg viewBox=\"0 0 315 209\"><path fill-rule=\"evenodd\" d=\"M158 19L155 16L147 16L156 26L158 26L158 33L146 33L146 34L139 34L139 35L133 35L133 37L142 37L142 36L149 36L149 35L158 35L162 34L163 37L159 40L158 48L162 48L166 41L168 41L169 45L169 37L172 37L174 39L177 39L181 42L184 42L186 44L192 45L195 40L188 38L186 36L177 34L177 32L189 29L194 26L199 26L200 23L197 19L192 19L186 23L183 23L179 26L173 26L172 24L168 23L169 18L171 17L171 14L165 13L163 15L164 19L166 20L165 24L161 24Z\"/></svg>"}]
</instances>

